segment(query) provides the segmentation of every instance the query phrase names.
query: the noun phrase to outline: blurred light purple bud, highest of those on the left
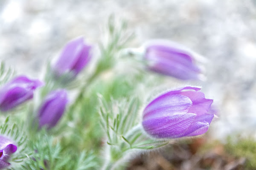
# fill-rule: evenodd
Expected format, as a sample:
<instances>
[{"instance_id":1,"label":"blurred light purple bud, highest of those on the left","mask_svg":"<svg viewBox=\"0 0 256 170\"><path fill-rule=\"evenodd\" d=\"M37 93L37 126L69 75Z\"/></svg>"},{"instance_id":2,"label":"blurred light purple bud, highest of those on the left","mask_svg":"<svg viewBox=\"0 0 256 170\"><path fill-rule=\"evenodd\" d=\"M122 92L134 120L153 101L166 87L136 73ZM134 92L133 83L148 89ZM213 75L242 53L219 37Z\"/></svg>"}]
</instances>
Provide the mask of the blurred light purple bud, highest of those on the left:
<instances>
[{"instance_id":1,"label":"blurred light purple bud, highest of those on the left","mask_svg":"<svg viewBox=\"0 0 256 170\"><path fill-rule=\"evenodd\" d=\"M83 37L68 42L53 65L57 76L72 72L76 76L89 62L92 46L84 43Z\"/></svg>"}]
</instances>

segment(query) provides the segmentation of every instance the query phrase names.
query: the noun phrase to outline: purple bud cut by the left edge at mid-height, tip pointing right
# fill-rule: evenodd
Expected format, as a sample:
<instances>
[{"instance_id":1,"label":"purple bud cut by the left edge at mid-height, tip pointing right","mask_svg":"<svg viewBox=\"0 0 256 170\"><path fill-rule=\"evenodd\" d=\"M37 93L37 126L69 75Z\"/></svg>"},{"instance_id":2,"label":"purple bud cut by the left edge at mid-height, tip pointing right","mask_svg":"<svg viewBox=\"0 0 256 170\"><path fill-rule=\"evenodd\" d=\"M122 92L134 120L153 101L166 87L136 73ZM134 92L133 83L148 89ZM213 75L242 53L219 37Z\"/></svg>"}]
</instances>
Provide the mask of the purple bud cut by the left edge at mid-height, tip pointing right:
<instances>
[{"instance_id":1,"label":"purple bud cut by the left edge at mid-height, tip pointing right","mask_svg":"<svg viewBox=\"0 0 256 170\"><path fill-rule=\"evenodd\" d=\"M33 98L33 92L43 83L38 79L32 80L19 76L0 89L0 110L8 111Z\"/></svg>"}]
</instances>

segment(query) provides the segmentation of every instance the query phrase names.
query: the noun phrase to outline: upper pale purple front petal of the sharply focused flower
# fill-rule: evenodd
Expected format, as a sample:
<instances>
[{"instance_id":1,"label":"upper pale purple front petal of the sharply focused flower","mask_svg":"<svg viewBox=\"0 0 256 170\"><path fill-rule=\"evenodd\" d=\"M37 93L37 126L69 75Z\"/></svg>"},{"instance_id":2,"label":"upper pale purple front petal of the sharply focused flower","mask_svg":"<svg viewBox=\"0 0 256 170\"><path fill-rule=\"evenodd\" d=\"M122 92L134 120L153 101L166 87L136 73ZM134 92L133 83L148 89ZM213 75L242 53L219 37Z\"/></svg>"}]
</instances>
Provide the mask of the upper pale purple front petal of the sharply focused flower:
<instances>
[{"instance_id":1,"label":"upper pale purple front petal of the sharply focused flower","mask_svg":"<svg viewBox=\"0 0 256 170\"><path fill-rule=\"evenodd\" d=\"M180 94L164 94L154 99L143 111L143 119L152 117L172 116L175 113L187 113L191 107L191 100Z\"/></svg>"}]
</instances>

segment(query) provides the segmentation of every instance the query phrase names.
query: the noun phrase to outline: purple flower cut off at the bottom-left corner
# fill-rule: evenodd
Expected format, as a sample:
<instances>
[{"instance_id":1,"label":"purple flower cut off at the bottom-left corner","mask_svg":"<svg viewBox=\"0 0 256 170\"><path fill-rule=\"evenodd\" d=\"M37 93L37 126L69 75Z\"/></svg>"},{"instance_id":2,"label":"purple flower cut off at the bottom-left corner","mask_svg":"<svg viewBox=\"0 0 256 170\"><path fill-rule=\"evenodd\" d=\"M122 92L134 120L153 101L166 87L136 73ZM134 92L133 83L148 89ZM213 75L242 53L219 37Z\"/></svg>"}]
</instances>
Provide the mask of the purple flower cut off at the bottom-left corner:
<instances>
[{"instance_id":1,"label":"purple flower cut off at the bottom-left corner","mask_svg":"<svg viewBox=\"0 0 256 170\"><path fill-rule=\"evenodd\" d=\"M0 136L0 170L10 165L9 159L15 153L17 146L14 142L4 136Z\"/></svg>"}]
</instances>

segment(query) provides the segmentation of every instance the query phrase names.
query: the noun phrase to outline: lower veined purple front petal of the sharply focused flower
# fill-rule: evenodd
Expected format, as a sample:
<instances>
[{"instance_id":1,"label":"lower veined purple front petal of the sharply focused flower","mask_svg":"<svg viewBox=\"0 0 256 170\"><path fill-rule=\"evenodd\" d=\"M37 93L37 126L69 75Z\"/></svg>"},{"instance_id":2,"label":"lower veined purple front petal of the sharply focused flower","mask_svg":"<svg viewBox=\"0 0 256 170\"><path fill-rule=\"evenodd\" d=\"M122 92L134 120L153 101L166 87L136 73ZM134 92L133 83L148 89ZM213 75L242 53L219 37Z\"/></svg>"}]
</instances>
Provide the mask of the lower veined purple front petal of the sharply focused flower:
<instances>
[{"instance_id":1,"label":"lower veined purple front petal of the sharply focused flower","mask_svg":"<svg viewBox=\"0 0 256 170\"><path fill-rule=\"evenodd\" d=\"M178 138L186 133L196 114L175 114L168 117L143 120L144 130L155 138Z\"/></svg>"}]
</instances>

